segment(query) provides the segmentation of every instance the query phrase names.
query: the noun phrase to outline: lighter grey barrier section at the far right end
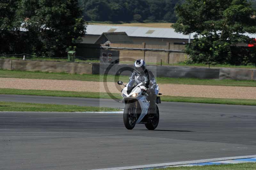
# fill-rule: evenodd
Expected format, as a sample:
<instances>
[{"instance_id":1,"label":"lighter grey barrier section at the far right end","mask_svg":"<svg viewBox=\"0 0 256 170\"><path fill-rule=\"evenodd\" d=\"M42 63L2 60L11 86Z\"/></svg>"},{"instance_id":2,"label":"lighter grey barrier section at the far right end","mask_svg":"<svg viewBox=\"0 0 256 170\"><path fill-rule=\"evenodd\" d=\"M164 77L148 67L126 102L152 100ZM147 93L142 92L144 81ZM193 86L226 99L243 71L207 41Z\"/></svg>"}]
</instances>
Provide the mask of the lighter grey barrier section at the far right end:
<instances>
[{"instance_id":1,"label":"lighter grey barrier section at the far right end","mask_svg":"<svg viewBox=\"0 0 256 170\"><path fill-rule=\"evenodd\" d=\"M220 80L256 80L256 70L220 68Z\"/></svg>"}]
</instances>

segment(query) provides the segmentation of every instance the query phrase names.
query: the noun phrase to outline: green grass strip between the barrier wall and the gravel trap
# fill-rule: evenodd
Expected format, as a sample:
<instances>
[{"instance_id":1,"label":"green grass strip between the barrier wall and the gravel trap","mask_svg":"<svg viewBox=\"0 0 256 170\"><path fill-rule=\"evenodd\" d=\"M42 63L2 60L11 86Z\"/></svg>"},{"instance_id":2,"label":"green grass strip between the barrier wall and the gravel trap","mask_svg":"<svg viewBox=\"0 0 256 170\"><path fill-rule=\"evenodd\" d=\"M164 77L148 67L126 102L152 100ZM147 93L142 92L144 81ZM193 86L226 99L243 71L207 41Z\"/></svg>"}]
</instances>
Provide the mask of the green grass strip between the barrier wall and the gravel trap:
<instances>
[{"instance_id":1,"label":"green grass strip between the barrier wall and the gravel trap","mask_svg":"<svg viewBox=\"0 0 256 170\"><path fill-rule=\"evenodd\" d=\"M28 79L53 79L53 80L79 80L79 81L103 81L103 75L98 74L68 74L68 73L43 73L28 71L8 71L0 70L0 77L8 78L28 78ZM114 75L108 75L107 81L115 82ZM119 80L129 81L129 76L120 76ZM156 77L159 84L191 84L191 85L216 85L216 86L251 86L256 87L256 81L244 80L213 80L213 79L193 79L193 78L166 78Z\"/></svg>"}]
</instances>

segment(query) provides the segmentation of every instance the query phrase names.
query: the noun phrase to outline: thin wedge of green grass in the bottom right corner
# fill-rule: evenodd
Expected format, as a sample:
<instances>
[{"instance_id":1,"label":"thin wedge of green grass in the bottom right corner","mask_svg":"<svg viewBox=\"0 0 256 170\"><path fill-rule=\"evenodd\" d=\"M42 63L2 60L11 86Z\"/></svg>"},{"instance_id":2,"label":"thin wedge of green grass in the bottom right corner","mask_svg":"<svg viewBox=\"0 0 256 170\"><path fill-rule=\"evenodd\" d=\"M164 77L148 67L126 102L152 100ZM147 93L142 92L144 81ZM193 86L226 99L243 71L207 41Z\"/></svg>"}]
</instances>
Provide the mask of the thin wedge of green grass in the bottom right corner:
<instances>
[{"instance_id":1,"label":"thin wedge of green grass in the bottom right corner","mask_svg":"<svg viewBox=\"0 0 256 170\"><path fill-rule=\"evenodd\" d=\"M256 163L210 165L210 166L191 166L191 167L169 167L157 168L153 170L255 170Z\"/></svg>"}]
</instances>

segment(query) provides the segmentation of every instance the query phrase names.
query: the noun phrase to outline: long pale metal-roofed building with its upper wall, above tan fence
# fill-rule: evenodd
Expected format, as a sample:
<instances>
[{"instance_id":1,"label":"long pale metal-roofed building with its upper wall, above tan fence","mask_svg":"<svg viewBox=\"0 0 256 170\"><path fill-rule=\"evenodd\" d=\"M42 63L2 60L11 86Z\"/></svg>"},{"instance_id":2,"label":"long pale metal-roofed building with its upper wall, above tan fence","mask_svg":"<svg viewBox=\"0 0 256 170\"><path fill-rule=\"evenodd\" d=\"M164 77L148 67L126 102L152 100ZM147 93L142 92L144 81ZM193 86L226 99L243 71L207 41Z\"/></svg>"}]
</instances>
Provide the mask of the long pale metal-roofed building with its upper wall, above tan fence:
<instances>
[{"instance_id":1,"label":"long pale metal-roofed building with its upper wall, above tan fence","mask_svg":"<svg viewBox=\"0 0 256 170\"><path fill-rule=\"evenodd\" d=\"M108 33L112 34L112 38L120 39L122 36L132 44L147 43L151 45L186 44L189 35L176 33L170 28L153 28L153 27L127 27L127 26L109 26L109 25L88 25L84 36L83 43L99 43L99 39L106 37ZM120 33L120 34L118 34ZM122 34L121 34L122 33ZM124 33L127 36L124 36ZM191 35L191 38L193 38ZM115 43L107 40L108 43ZM101 42L102 43L102 42ZM120 42L122 43L122 42Z\"/></svg>"}]
</instances>

